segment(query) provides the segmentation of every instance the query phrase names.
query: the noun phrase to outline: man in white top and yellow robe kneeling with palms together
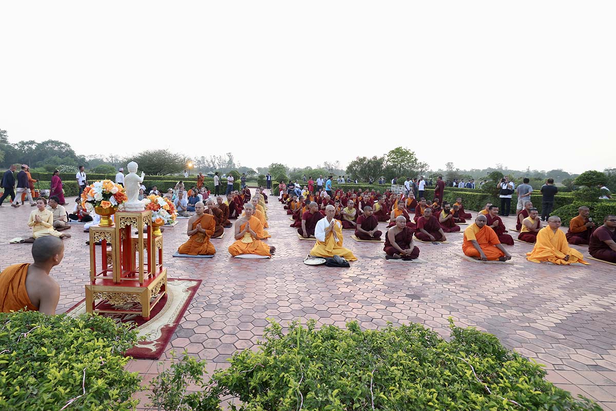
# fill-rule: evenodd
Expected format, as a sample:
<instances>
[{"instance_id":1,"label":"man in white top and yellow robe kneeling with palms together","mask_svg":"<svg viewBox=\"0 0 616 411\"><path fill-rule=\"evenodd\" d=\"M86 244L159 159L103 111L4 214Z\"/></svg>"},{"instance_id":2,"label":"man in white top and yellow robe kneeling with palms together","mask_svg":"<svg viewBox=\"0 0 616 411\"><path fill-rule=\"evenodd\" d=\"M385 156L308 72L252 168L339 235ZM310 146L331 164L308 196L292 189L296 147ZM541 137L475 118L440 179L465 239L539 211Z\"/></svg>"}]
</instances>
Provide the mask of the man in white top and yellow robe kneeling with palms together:
<instances>
[{"instance_id":1,"label":"man in white top and yellow robe kneeling with palms together","mask_svg":"<svg viewBox=\"0 0 616 411\"><path fill-rule=\"evenodd\" d=\"M317 239L310 256L313 257L333 257L341 256L347 261L355 261L357 258L351 250L342 246L342 224L334 218L334 206L325 207L325 218L317 222L314 230Z\"/></svg>"}]
</instances>

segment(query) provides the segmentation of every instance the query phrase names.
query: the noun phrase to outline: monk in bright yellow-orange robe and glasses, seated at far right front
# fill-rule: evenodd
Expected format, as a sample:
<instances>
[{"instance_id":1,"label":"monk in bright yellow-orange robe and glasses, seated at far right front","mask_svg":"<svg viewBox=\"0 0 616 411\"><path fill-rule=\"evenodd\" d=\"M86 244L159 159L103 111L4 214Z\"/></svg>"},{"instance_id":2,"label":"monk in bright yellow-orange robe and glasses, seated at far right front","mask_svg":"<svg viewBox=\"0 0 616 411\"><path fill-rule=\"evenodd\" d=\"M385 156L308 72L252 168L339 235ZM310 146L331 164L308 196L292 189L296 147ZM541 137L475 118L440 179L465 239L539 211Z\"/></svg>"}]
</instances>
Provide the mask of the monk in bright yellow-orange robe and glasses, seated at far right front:
<instances>
[{"instance_id":1,"label":"monk in bright yellow-orange robe and glasses, seated at far right front","mask_svg":"<svg viewBox=\"0 0 616 411\"><path fill-rule=\"evenodd\" d=\"M560 230L560 227L561 218L559 216L548 218L548 226L537 233L537 242L533 251L526 253L526 259L532 262L547 261L553 264L573 264L575 262L588 264L584 261L580 251L570 248L565 232Z\"/></svg>"}]
</instances>

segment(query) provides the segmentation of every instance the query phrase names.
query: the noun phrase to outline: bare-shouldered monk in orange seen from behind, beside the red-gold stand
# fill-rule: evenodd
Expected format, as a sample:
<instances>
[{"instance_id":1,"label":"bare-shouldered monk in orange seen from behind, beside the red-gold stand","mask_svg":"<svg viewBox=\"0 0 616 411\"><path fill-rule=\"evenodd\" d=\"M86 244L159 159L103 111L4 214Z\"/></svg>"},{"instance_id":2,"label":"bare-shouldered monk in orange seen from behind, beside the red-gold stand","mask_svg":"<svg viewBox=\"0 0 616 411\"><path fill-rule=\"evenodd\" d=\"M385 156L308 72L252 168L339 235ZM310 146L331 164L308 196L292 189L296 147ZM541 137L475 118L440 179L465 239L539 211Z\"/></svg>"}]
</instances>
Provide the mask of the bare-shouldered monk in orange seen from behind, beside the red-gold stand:
<instances>
[{"instance_id":1,"label":"bare-shouldered monk in orange seen from behind, beside the red-gold stand","mask_svg":"<svg viewBox=\"0 0 616 411\"><path fill-rule=\"evenodd\" d=\"M60 286L49 276L62 261L64 244L52 235L32 245L33 264L13 264L0 272L0 312L39 311L54 315Z\"/></svg>"}]
</instances>

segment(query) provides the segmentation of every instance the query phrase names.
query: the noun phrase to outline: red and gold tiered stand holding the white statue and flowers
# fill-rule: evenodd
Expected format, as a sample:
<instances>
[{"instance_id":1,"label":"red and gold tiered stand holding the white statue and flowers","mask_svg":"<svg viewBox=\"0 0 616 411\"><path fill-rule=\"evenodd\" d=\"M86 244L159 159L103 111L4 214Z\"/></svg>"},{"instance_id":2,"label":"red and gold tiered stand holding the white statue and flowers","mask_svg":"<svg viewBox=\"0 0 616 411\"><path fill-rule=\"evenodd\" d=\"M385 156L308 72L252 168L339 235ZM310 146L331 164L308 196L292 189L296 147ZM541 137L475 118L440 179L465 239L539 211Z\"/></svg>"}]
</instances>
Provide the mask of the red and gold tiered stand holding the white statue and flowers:
<instances>
[{"instance_id":1,"label":"red and gold tiered stand holding the white statue and flowers","mask_svg":"<svg viewBox=\"0 0 616 411\"><path fill-rule=\"evenodd\" d=\"M147 237L144 237L144 226L147 226ZM137 229L137 237L132 237L133 227ZM99 256L95 245L98 241L101 242ZM108 245L111 245L109 251ZM90 227L87 312L137 313L148 320L153 307L166 293L166 284L163 236L152 235L152 211L118 211L113 226ZM123 307L133 303L139 303L141 309Z\"/></svg>"}]
</instances>

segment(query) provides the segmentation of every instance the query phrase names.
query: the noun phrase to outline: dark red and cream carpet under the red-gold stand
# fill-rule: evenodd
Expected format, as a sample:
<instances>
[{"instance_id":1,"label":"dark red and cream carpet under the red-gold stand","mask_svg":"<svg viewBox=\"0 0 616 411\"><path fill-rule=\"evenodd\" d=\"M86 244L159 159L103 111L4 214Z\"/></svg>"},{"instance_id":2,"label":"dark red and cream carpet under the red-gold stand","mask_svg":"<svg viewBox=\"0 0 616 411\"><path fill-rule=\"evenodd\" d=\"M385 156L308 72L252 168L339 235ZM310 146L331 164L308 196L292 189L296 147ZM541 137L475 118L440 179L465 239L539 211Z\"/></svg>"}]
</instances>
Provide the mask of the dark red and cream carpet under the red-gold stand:
<instances>
[{"instance_id":1,"label":"dark red and cream carpet under the red-gold stand","mask_svg":"<svg viewBox=\"0 0 616 411\"><path fill-rule=\"evenodd\" d=\"M163 354L171 336L175 332L188 304L192 301L201 280L168 279L167 293L154 306L150 320L145 321L139 314L113 314L102 313L116 322L131 323L139 329L139 336L145 336L144 341L139 341L133 348L124 352L124 356L138 359L159 359ZM102 309L107 304L97 306ZM139 309L139 303L128 303L116 306L121 309ZM83 299L71 307L67 314L75 317L86 312L86 300Z\"/></svg>"}]
</instances>

